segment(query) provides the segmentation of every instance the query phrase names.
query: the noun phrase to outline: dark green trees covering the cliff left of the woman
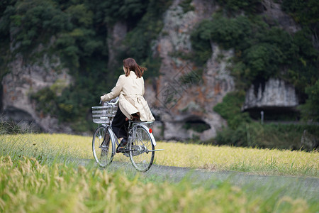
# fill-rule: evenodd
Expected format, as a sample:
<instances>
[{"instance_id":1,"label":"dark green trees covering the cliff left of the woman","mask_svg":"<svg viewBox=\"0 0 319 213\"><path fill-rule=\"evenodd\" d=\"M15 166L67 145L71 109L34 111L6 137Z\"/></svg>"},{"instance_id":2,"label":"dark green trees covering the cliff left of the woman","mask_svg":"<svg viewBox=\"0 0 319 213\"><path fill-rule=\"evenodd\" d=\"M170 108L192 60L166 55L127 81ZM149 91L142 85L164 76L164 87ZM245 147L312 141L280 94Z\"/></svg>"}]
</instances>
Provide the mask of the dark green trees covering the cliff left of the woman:
<instances>
[{"instance_id":1,"label":"dark green trees covering the cliff left of the woman","mask_svg":"<svg viewBox=\"0 0 319 213\"><path fill-rule=\"evenodd\" d=\"M160 60L152 57L150 43L162 28L161 16L169 4L162 0L1 1L1 68L16 54L23 54L28 63L39 55L59 55L74 84L60 95L45 88L32 98L43 113L52 107L62 121L84 119L87 109L99 103L101 94L108 92L123 72L123 58L133 57L148 67L150 74L157 72ZM108 30L116 22L128 26L128 35L125 49L108 67ZM4 69L0 70L3 76Z\"/></svg>"}]
</instances>

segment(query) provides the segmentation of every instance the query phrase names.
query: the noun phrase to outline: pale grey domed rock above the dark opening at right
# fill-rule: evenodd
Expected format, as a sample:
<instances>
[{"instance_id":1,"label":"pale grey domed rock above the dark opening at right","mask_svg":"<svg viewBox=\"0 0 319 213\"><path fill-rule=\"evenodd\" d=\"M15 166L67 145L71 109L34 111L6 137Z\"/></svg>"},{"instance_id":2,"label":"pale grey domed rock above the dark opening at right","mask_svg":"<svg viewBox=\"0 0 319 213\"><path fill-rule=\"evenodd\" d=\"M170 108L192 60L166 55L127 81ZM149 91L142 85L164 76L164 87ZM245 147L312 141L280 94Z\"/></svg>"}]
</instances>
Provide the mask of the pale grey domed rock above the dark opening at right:
<instances>
[{"instance_id":1,"label":"pale grey domed rock above the dark opening at right","mask_svg":"<svg viewBox=\"0 0 319 213\"><path fill-rule=\"evenodd\" d=\"M264 85L254 85L248 89L242 109L298 106L295 88L283 80L270 79Z\"/></svg>"}]
</instances>

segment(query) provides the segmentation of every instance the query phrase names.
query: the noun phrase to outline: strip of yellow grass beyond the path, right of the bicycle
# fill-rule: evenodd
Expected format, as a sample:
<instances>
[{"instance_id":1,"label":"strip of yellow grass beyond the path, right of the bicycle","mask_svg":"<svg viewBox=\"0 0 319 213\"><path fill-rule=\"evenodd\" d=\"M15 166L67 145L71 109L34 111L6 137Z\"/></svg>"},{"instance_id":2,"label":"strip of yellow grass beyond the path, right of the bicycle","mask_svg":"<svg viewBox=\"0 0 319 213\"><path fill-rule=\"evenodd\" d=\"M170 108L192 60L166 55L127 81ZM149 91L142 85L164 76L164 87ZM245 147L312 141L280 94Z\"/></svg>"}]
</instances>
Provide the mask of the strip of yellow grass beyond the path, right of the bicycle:
<instances>
[{"instance_id":1,"label":"strip of yellow grass beyond the path, right of the bicycle","mask_svg":"<svg viewBox=\"0 0 319 213\"><path fill-rule=\"evenodd\" d=\"M158 143L157 163L211 170L318 177L319 153L276 149Z\"/></svg>"}]
</instances>

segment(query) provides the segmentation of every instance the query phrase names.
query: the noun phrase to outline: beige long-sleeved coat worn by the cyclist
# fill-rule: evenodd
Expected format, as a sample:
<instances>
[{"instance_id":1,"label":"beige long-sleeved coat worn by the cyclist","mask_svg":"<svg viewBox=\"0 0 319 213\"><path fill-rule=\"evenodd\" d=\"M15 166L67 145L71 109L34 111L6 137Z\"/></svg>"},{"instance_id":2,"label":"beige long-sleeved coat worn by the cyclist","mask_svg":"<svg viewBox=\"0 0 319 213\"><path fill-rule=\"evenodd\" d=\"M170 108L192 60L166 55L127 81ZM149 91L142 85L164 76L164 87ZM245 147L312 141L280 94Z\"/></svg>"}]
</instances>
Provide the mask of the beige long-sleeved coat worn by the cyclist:
<instances>
[{"instance_id":1,"label":"beige long-sleeved coat worn by the cyclist","mask_svg":"<svg viewBox=\"0 0 319 213\"><path fill-rule=\"evenodd\" d=\"M137 77L135 72L130 71L130 75L127 77L120 75L116 86L110 93L101 96L101 100L108 102L119 96L119 107L128 119L133 119L132 114L139 113L141 121L155 121L143 95L143 77Z\"/></svg>"}]
</instances>

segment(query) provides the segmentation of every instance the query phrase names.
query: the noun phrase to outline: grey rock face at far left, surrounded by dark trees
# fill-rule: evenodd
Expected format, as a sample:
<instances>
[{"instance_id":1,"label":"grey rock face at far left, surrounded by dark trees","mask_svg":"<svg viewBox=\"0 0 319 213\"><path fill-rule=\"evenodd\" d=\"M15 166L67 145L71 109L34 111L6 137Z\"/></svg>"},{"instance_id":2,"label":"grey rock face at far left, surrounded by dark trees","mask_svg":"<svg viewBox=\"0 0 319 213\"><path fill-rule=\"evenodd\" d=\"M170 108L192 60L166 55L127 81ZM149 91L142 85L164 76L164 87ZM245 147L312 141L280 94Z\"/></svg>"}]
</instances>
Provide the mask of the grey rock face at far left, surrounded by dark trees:
<instances>
[{"instance_id":1,"label":"grey rock face at far left, surrounded by dark trees","mask_svg":"<svg viewBox=\"0 0 319 213\"><path fill-rule=\"evenodd\" d=\"M11 72L2 80L3 97L2 106L6 121L15 121L22 129L46 132L71 132L71 129L58 124L53 116L44 116L35 111L35 103L31 101L30 94L40 89L59 84L66 87L72 78L67 69L60 69L59 58L43 58L33 65L25 63L21 55L17 55L10 65Z\"/></svg>"}]
</instances>

